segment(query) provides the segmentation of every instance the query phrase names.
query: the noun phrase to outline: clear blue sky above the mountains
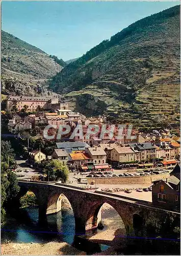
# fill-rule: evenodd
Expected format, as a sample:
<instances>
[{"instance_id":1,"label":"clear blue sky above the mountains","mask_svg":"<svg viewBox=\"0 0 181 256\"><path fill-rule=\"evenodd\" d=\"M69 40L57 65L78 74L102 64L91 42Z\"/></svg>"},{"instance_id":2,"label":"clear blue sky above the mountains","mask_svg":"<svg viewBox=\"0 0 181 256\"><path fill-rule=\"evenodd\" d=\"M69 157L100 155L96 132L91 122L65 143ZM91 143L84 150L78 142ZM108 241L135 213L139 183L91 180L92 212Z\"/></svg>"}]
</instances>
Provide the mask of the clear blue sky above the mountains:
<instances>
[{"instance_id":1,"label":"clear blue sky above the mountains","mask_svg":"<svg viewBox=\"0 0 181 256\"><path fill-rule=\"evenodd\" d=\"M179 2L2 2L2 29L48 54L82 56L137 20Z\"/></svg>"}]
</instances>

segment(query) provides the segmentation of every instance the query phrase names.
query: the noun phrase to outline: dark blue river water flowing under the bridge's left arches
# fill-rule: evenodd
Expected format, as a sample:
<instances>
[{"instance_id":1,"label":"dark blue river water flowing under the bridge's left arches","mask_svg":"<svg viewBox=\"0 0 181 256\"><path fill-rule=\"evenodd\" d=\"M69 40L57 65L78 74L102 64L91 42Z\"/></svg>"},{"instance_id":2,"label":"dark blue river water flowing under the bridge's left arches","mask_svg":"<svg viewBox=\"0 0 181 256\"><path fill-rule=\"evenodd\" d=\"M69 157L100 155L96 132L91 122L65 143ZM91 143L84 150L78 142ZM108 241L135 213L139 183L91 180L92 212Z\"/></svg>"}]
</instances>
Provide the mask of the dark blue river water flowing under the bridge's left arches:
<instances>
[{"instance_id":1,"label":"dark blue river water flowing under the bridge's left arches","mask_svg":"<svg viewBox=\"0 0 181 256\"><path fill-rule=\"evenodd\" d=\"M38 207L27 207L11 212L6 225L2 227L2 242L5 240L15 243L66 242L86 251L88 255L109 248L107 245L89 241L77 242L77 238L74 239L73 211L69 208L62 208L57 214L48 215L47 223L47 227L38 226Z\"/></svg>"}]
</instances>

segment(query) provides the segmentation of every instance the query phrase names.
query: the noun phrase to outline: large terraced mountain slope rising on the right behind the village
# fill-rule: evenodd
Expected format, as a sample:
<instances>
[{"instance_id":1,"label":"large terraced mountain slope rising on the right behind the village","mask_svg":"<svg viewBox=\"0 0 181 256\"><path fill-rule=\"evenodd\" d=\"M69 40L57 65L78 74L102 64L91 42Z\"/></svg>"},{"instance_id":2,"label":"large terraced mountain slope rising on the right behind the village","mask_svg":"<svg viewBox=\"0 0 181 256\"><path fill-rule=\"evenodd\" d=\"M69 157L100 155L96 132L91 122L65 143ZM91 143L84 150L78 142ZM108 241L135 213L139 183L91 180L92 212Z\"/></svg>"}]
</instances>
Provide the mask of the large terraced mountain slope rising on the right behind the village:
<instances>
[{"instance_id":1,"label":"large terraced mountain slope rising on the right behind the village","mask_svg":"<svg viewBox=\"0 0 181 256\"><path fill-rule=\"evenodd\" d=\"M179 6L102 41L54 76L49 88L63 91L71 106L86 114L143 125L177 122Z\"/></svg>"}]
</instances>

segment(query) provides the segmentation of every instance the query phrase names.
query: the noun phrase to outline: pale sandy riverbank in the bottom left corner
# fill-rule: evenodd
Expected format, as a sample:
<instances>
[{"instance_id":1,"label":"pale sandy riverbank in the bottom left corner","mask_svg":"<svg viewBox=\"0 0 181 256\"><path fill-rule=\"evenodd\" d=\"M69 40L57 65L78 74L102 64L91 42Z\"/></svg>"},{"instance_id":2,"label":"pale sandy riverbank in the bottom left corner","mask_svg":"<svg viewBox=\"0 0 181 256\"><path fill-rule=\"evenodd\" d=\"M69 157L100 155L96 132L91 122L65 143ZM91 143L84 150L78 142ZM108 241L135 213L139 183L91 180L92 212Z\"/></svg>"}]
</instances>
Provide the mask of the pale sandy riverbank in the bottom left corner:
<instances>
[{"instance_id":1,"label":"pale sandy riverbank in the bottom left corner","mask_svg":"<svg viewBox=\"0 0 181 256\"><path fill-rule=\"evenodd\" d=\"M67 243L9 243L1 245L2 255L86 255Z\"/></svg>"}]
</instances>

